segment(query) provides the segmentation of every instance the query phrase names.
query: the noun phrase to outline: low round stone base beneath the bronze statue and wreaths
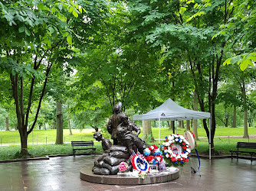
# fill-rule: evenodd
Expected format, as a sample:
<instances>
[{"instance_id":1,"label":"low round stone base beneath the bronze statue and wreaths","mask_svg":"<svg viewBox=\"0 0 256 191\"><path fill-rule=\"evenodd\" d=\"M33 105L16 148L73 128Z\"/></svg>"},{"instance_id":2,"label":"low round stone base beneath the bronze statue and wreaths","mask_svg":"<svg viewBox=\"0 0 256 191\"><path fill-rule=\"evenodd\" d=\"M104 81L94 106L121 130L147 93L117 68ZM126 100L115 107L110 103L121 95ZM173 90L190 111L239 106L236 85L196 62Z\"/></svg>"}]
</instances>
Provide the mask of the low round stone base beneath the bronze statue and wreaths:
<instances>
[{"instance_id":1,"label":"low round stone base beneath the bronze statue and wreaths","mask_svg":"<svg viewBox=\"0 0 256 191\"><path fill-rule=\"evenodd\" d=\"M179 169L166 167L166 171L150 170L149 176L133 176L132 172L117 173L117 175L99 175L92 172L92 167L84 167L80 170L80 179L90 183L112 184L112 185L142 185L153 183L166 183L179 178Z\"/></svg>"}]
</instances>

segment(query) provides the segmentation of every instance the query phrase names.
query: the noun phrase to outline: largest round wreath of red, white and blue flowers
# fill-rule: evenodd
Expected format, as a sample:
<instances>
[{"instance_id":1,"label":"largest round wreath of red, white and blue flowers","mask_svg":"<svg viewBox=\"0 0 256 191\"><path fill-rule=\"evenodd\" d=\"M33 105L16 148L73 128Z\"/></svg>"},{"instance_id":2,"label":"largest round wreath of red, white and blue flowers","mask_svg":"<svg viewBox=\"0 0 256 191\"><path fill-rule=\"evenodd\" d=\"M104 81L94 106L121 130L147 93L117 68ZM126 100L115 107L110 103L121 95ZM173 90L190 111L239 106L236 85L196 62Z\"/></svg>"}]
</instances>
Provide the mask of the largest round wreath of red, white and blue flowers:
<instances>
[{"instance_id":1,"label":"largest round wreath of red, white and blue flowers","mask_svg":"<svg viewBox=\"0 0 256 191\"><path fill-rule=\"evenodd\" d=\"M174 167L182 167L189 161L191 153L189 141L180 134L170 134L166 137L166 141L161 145L161 150L166 163Z\"/></svg>"}]
</instances>

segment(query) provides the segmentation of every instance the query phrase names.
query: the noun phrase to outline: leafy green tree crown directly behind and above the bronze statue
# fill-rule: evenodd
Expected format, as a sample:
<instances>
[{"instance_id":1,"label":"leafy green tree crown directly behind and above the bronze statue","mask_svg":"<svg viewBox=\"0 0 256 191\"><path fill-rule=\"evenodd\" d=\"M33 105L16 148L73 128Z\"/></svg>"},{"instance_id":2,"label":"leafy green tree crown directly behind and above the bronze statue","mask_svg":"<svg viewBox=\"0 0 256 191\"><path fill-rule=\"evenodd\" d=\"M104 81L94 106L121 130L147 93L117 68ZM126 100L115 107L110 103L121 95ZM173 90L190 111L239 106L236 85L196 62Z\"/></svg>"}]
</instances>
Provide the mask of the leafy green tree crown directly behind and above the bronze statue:
<instances>
[{"instance_id":1,"label":"leafy green tree crown directly behind and above the bronze statue","mask_svg":"<svg viewBox=\"0 0 256 191\"><path fill-rule=\"evenodd\" d=\"M79 83L76 83L81 97L89 100L90 97L84 95L97 92L108 100L110 108L122 102L123 111L136 102L139 107L147 106L146 100L153 98L147 89L158 86L154 77L158 72L159 55L150 51L143 40L127 40L129 17L126 6L117 5L101 30L89 37L87 53L81 55L84 63L77 71ZM141 94L143 96L138 96ZM97 102L90 101L96 108Z\"/></svg>"}]
</instances>

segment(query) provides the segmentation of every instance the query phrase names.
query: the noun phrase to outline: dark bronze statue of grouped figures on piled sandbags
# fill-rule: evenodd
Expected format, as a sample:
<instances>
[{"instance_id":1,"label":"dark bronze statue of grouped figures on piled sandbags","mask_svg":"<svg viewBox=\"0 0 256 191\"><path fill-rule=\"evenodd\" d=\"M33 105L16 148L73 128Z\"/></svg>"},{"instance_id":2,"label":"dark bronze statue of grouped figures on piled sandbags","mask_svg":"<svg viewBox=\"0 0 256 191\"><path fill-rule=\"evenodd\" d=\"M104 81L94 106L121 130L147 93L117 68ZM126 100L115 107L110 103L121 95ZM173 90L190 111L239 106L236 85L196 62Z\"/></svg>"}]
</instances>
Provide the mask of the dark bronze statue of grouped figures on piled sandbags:
<instances>
[{"instance_id":1,"label":"dark bronze statue of grouped figures on piled sandbags","mask_svg":"<svg viewBox=\"0 0 256 191\"><path fill-rule=\"evenodd\" d=\"M146 143L138 137L139 127L130 121L128 115L122 112L122 104L118 102L113 108L113 115L107 123L107 131L111 134L113 144L107 138L103 138L100 132L94 134L97 141L101 141L104 153L94 161L93 172L95 174L117 174L122 162L128 164L127 170L132 170L130 161L132 154L142 153L146 149Z\"/></svg>"}]
</instances>

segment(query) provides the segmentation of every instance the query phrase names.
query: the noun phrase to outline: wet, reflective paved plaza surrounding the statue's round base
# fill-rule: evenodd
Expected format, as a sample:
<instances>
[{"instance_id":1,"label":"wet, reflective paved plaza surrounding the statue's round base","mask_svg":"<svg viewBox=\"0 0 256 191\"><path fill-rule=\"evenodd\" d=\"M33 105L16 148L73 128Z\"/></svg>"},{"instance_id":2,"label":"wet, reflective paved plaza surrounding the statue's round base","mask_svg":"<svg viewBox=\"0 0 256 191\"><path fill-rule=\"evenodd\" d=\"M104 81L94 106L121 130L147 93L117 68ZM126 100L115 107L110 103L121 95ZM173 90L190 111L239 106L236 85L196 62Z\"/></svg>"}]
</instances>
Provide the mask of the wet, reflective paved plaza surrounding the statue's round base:
<instances>
[{"instance_id":1,"label":"wet, reflective paved plaza surrounding the statue's round base","mask_svg":"<svg viewBox=\"0 0 256 191\"><path fill-rule=\"evenodd\" d=\"M0 163L0 190L256 190L256 161L197 158L180 168L179 178L169 183L142 186L115 186L80 180L80 169L93 165L94 156L51 157L50 160Z\"/></svg>"}]
</instances>

